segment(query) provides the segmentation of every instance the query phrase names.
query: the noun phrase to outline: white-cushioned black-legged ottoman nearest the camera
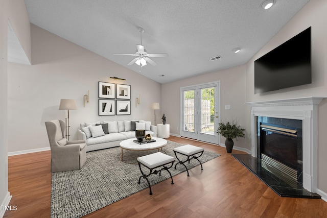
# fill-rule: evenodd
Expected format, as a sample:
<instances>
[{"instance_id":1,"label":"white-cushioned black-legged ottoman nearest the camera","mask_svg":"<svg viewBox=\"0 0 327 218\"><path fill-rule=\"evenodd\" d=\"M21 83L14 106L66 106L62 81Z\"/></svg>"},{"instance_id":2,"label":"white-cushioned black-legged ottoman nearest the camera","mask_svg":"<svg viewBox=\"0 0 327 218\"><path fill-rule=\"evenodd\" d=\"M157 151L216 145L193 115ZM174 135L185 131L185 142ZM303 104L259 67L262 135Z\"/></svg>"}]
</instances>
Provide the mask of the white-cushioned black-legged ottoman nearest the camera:
<instances>
[{"instance_id":1,"label":"white-cushioned black-legged ottoman nearest the camera","mask_svg":"<svg viewBox=\"0 0 327 218\"><path fill-rule=\"evenodd\" d=\"M139 177L139 179L138 179L138 184L141 183L141 178L146 179L147 182L148 182L149 188L150 188L150 195L152 195L151 185L150 185L150 182L148 180L148 177L151 174L158 174L159 173L159 175L161 175L162 169L165 169L169 173L170 178L172 179L172 184L174 184L173 177L172 177L171 173L168 170L169 168L171 168L174 165L174 162L175 162L175 158L173 158L173 157L171 157L171 156L169 156L167 154L162 154L161 152L157 152L157 153L154 153L154 154L149 154L149 155L145 155L145 156L142 156L142 157L138 157L137 158L137 163L138 163L139 170L141 171L141 174L142 174L142 176ZM141 164L144 165L145 167L147 167L148 169L150 169L149 174L143 173ZM166 166L167 164L171 164L171 165L167 167ZM157 171L155 169L155 168L158 168L158 167L161 167L161 166L162 166L162 168L159 169L159 171ZM153 171L153 169L155 169L155 170Z\"/></svg>"}]
</instances>

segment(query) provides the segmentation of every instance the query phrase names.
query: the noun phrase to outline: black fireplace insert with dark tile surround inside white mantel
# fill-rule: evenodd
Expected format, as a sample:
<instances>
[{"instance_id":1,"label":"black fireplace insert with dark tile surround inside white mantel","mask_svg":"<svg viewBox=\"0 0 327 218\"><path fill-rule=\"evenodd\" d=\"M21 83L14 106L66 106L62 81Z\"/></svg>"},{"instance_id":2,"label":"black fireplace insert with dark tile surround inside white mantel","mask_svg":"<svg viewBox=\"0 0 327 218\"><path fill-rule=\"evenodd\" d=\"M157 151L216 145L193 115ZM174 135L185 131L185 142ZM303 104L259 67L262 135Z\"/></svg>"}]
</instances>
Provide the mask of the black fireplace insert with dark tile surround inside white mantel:
<instances>
[{"instance_id":1,"label":"black fireplace insert with dark tile surround inside white mantel","mask_svg":"<svg viewBox=\"0 0 327 218\"><path fill-rule=\"evenodd\" d=\"M302 183L302 120L256 117L262 166L290 183Z\"/></svg>"}]
</instances>

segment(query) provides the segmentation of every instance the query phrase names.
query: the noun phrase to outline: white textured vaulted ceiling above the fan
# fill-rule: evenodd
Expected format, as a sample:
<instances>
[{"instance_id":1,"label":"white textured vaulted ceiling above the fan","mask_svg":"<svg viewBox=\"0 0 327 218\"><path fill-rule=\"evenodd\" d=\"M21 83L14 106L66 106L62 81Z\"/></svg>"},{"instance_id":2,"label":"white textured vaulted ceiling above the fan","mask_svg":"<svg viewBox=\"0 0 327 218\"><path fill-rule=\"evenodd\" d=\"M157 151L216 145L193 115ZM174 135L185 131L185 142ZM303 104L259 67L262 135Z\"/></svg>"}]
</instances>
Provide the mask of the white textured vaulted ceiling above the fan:
<instances>
[{"instance_id":1,"label":"white textured vaulted ceiling above the fan","mask_svg":"<svg viewBox=\"0 0 327 218\"><path fill-rule=\"evenodd\" d=\"M309 0L25 0L31 23L159 83L247 63ZM140 43L158 65L127 64ZM241 52L232 50L240 47ZM221 58L211 61L210 58ZM165 75L165 77L159 77ZM118 76L119 75L110 75Z\"/></svg>"}]
</instances>

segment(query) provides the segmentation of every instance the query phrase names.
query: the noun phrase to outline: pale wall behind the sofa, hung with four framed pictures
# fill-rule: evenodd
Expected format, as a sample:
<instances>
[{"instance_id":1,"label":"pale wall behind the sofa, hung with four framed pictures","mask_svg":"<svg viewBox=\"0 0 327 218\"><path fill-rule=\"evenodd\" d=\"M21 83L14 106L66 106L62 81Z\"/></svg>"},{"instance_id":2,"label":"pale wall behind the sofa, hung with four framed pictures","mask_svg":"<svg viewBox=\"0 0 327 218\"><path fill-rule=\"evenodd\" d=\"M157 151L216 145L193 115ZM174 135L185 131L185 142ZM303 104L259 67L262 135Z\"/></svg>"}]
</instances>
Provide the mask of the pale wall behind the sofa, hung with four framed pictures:
<instances>
[{"instance_id":1,"label":"pale wall behind the sofa, hung with four framed pictures","mask_svg":"<svg viewBox=\"0 0 327 218\"><path fill-rule=\"evenodd\" d=\"M8 64L8 151L49 148L44 122L65 120L60 99L76 99L69 111L70 140L80 123L145 119L154 122L152 102L160 102L161 84L113 63L48 31L31 25L32 65ZM126 81L109 77L124 78ZM98 115L99 81L131 85L131 115ZM83 96L89 90L89 103ZM141 95L141 104L135 99ZM19 134L18 134L19 133Z\"/></svg>"}]
</instances>

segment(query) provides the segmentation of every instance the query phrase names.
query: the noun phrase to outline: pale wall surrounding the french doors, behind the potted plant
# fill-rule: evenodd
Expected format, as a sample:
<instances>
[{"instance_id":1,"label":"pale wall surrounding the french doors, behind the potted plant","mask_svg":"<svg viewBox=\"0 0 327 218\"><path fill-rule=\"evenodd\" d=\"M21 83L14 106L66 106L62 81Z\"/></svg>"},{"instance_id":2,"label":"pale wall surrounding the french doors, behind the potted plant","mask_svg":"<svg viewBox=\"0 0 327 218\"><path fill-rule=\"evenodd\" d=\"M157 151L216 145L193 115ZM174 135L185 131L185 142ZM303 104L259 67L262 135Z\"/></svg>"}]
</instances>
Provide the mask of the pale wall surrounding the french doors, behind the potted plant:
<instances>
[{"instance_id":1,"label":"pale wall surrounding the french doors, behind the potted plant","mask_svg":"<svg viewBox=\"0 0 327 218\"><path fill-rule=\"evenodd\" d=\"M165 113L167 123L170 124L170 132L175 135L180 135L180 87L208 83L212 81L220 81L221 95L221 120L237 119L242 127L246 126L246 116L248 116L249 108L244 105L246 100L246 65L232 67L210 74L200 75L184 80L179 80L171 83L162 84L161 89L161 112ZM224 105L229 104L231 109L224 109ZM246 138L240 138L235 141L236 147L242 147L251 150L250 128L247 129ZM224 143L225 138L221 138L221 143ZM217 142L218 143L218 142Z\"/></svg>"}]
</instances>

